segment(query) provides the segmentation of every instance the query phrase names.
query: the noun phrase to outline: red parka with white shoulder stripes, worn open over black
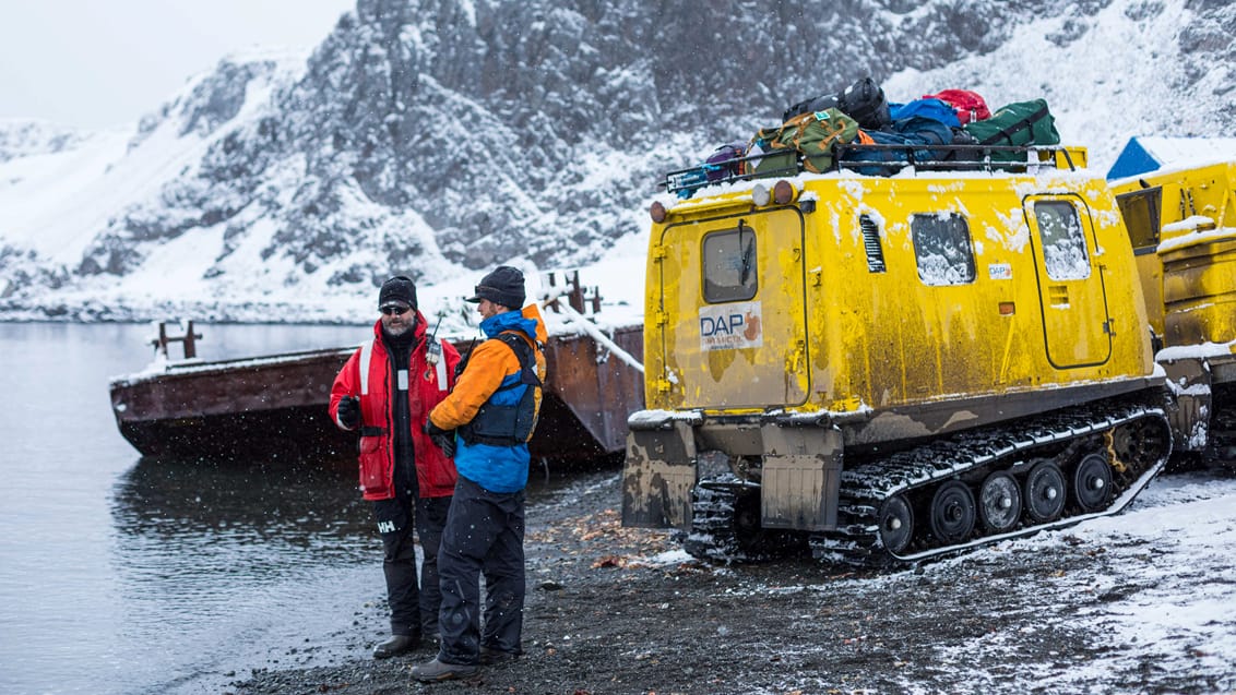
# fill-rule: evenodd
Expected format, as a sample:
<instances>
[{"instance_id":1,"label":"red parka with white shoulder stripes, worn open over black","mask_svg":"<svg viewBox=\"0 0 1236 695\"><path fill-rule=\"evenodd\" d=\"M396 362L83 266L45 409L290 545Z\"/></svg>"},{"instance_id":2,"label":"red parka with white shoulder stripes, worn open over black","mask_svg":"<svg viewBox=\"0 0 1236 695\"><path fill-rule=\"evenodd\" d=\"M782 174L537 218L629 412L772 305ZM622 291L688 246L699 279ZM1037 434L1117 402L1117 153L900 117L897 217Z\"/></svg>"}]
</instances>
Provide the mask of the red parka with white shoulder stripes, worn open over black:
<instances>
[{"instance_id":1,"label":"red parka with white shoulder stripes, worn open over black","mask_svg":"<svg viewBox=\"0 0 1236 695\"><path fill-rule=\"evenodd\" d=\"M429 411L446 397L455 385L455 365L460 353L455 346L440 341L442 356L438 364L425 360L425 317L417 312L417 347L408 365L408 412L412 416L413 454L417 458L417 486L421 497L445 497L454 494L459 474L455 462L446 457L433 439L421 431ZM367 369L362 369L366 367ZM335 377L330 390L330 417L340 428L339 401L344 396L361 399L361 493L366 500L389 500L394 496L394 420L391 393L396 373L382 342L382 320L373 325L373 341L361 346Z\"/></svg>"}]
</instances>

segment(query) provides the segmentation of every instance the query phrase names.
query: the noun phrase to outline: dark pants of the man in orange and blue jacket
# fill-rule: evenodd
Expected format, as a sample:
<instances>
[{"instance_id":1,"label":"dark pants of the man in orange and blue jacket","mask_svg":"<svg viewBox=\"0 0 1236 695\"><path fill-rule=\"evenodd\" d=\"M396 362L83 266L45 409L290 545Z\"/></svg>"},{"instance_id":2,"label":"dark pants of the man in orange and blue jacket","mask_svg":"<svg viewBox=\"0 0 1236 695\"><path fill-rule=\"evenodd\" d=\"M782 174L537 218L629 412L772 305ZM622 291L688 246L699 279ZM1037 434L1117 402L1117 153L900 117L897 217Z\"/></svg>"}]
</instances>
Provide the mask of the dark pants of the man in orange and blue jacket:
<instances>
[{"instance_id":1,"label":"dark pants of the man in orange and blue jacket","mask_svg":"<svg viewBox=\"0 0 1236 695\"><path fill-rule=\"evenodd\" d=\"M438 556L442 636L438 659L476 664L481 646L522 653L524 627L524 493L491 493L460 477ZM481 575L485 628L481 628Z\"/></svg>"}]
</instances>

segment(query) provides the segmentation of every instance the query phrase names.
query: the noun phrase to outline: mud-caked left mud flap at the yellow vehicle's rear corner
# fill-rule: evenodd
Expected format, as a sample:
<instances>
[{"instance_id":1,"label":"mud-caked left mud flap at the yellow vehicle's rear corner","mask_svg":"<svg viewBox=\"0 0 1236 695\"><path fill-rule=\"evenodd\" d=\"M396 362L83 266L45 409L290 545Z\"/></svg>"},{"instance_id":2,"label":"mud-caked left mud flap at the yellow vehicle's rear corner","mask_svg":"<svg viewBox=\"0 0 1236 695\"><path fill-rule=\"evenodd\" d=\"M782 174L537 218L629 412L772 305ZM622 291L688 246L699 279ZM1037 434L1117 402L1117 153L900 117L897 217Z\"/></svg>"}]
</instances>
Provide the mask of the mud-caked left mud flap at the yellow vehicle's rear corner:
<instances>
[{"instance_id":1,"label":"mud-caked left mud flap at the yellow vehicle's rear corner","mask_svg":"<svg viewBox=\"0 0 1236 695\"><path fill-rule=\"evenodd\" d=\"M696 443L691 426L632 430L622 475L622 523L645 528L691 528Z\"/></svg>"}]
</instances>

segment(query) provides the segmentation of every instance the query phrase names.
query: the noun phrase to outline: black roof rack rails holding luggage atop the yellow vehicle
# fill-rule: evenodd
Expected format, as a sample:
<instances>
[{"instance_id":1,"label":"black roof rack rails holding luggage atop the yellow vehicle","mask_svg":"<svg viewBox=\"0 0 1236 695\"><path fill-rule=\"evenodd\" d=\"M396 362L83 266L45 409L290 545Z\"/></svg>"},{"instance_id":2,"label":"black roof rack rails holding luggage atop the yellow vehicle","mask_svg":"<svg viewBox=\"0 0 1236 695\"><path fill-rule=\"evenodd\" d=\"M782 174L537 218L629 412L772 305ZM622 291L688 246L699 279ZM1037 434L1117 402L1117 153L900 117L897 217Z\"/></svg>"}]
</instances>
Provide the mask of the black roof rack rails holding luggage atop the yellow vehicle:
<instances>
[{"instance_id":1,"label":"black roof rack rails holding luggage atop the yellow vehicle","mask_svg":"<svg viewBox=\"0 0 1236 695\"><path fill-rule=\"evenodd\" d=\"M775 164L761 167L765 159ZM677 194L679 198L690 198L696 190L713 184L797 175L805 170L802 159L801 152L779 148L750 157L676 169L665 174L665 180L658 188ZM1004 173L1026 173L1041 168L1075 172L1080 168L1069 149L1058 146L848 143L833 148L833 165L828 170L887 177L906 167L912 167L916 172ZM761 170L755 172L756 168Z\"/></svg>"}]
</instances>

